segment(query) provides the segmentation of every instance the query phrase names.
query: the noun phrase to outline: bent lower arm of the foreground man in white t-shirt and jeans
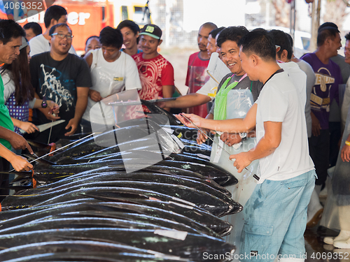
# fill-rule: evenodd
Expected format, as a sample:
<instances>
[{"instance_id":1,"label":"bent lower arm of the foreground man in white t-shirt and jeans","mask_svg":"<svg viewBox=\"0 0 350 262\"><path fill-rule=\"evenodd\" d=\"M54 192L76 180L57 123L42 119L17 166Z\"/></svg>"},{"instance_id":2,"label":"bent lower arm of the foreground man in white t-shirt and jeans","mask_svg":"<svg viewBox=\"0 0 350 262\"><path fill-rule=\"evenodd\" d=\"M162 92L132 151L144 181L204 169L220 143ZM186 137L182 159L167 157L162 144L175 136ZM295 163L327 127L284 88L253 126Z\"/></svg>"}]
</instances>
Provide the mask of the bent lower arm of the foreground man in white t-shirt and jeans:
<instances>
[{"instance_id":1,"label":"bent lower arm of the foreground man in white t-shirt and jeans","mask_svg":"<svg viewBox=\"0 0 350 262\"><path fill-rule=\"evenodd\" d=\"M279 144L282 137L282 122L264 122L265 135L259 140L258 145L239 154L232 154L230 159L236 159L233 166L238 170L238 173L249 166L255 159L262 159L272 154Z\"/></svg>"}]
</instances>

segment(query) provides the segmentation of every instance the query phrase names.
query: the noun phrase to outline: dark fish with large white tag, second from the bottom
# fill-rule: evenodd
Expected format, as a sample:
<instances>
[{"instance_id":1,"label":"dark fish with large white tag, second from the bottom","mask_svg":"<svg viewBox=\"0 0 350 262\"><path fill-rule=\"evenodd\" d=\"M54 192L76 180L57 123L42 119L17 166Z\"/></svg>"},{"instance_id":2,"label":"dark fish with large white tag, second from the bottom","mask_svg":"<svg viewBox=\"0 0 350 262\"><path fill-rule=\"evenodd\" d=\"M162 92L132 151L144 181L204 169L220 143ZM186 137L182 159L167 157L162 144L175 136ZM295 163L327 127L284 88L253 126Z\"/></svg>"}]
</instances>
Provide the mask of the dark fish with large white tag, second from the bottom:
<instances>
[{"instance_id":1,"label":"dark fish with large white tag, second from the bottom","mask_svg":"<svg viewBox=\"0 0 350 262\"><path fill-rule=\"evenodd\" d=\"M59 240L104 240L104 242L123 243L183 259L207 261L203 252L208 255L233 254L235 246L221 238L198 235L183 231L160 231L122 228L66 228L50 229L0 235L3 248L15 247L37 242Z\"/></svg>"}]
</instances>

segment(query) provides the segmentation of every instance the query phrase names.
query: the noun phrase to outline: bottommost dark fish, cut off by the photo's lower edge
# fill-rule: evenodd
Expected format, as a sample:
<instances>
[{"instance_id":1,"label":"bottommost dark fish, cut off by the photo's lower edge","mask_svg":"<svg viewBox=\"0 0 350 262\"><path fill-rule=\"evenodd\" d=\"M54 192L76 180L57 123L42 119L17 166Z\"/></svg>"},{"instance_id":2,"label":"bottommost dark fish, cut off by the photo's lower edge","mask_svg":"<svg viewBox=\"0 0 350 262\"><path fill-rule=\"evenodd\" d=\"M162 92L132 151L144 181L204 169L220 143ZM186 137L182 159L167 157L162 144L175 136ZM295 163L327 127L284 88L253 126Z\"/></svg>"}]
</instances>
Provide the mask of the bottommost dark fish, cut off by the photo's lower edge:
<instances>
[{"instance_id":1,"label":"bottommost dark fish, cut off by the photo's lower edge","mask_svg":"<svg viewBox=\"0 0 350 262\"><path fill-rule=\"evenodd\" d=\"M51 242L38 242L35 244L27 244L21 246L10 247L0 251L1 261L10 259L18 259L17 261L45 261L49 259L50 254L92 254L89 252L99 252L99 254L111 254L116 257L118 254L130 254L133 258L142 256L141 261L173 261L172 256L155 252L150 252L146 249L131 247L129 245L114 244L102 241L91 240L61 240ZM42 254L42 255L41 255ZM37 256L35 256L37 255ZM78 261L76 258L73 261ZM123 258L125 259L125 258ZM153 260L151 260L153 259ZM169 260L163 260L169 259ZM179 258L177 258L179 259ZM60 259L54 261L62 261ZM86 260L85 260L86 261ZM182 259L175 261L184 261ZM186 260L188 261L188 260Z\"/></svg>"}]
</instances>

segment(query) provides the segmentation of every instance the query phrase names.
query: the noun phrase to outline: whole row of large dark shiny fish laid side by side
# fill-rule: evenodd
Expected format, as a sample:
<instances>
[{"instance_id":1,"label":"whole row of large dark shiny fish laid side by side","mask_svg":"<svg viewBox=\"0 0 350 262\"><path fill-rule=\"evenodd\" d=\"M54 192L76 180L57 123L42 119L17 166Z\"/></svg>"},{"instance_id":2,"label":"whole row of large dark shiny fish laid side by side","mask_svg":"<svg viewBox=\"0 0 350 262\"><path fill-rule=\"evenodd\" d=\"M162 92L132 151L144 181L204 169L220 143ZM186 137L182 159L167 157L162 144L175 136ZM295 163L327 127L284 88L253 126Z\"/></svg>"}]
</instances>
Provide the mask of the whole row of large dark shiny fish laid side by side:
<instances>
[{"instance_id":1,"label":"whole row of large dark shiny fish laid side by side","mask_svg":"<svg viewBox=\"0 0 350 262\"><path fill-rule=\"evenodd\" d=\"M208 161L208 145L148 120L154 143L142 125L125 122L16 173L17 193L1 202L1 261L230 260L235 247L222 237L232 225L219 217L242 210L223 187L237 180ZM124 140L103 146L111 134Z\"/></svg>"}]
</instances>

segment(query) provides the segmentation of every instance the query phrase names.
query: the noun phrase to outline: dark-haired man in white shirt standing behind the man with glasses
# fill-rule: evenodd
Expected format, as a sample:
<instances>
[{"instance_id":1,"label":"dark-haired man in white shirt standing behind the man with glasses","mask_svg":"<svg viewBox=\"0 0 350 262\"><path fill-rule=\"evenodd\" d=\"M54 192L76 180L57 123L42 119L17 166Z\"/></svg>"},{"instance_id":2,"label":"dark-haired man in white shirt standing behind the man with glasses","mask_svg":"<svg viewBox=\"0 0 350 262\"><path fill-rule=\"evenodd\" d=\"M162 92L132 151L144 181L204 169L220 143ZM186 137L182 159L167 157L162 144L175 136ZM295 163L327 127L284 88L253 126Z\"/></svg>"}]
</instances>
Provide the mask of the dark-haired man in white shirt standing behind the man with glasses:
<instances>
[{"instance_id":1,"label":"dark-haired man in white shirt standing behind the man with glasses","mask_svg":"<svg viewBox=\"0 0 350 262\"><path fill-rule=\"evenodd\" d=\"M41 54L43 52L50 52L50 28L55 24L64 23L66 24L67 13L66 9L62 6L50 6L45 11L44 23L46 31L44 34L39 34L29 41L30 56L33 57L35 54ZM69 49L69 53L76 54L73 45Z\"/></svg>"}]
</instances>

